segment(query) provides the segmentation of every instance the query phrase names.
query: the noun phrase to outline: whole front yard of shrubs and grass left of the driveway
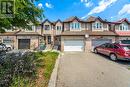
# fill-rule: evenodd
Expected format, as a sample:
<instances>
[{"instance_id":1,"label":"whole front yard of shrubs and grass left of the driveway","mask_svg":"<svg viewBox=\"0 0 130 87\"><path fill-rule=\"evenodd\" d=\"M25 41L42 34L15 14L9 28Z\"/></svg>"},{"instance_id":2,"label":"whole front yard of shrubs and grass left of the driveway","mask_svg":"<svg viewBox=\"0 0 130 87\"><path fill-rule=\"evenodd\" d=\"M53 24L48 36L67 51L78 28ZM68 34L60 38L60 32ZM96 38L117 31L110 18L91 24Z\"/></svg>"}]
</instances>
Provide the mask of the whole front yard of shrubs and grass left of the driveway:
<instances>
[{"instance_id":1,"label":"whole front yard of shrubs and grass left of the driveway","mask_svg":"<svg viewBox=\"0 0 130 87\"><path fill-rule=\"evenodd\" d=\"M0 65L0 87L47 87L57 52L10 54Z\"/></svg>"}]
</instances>

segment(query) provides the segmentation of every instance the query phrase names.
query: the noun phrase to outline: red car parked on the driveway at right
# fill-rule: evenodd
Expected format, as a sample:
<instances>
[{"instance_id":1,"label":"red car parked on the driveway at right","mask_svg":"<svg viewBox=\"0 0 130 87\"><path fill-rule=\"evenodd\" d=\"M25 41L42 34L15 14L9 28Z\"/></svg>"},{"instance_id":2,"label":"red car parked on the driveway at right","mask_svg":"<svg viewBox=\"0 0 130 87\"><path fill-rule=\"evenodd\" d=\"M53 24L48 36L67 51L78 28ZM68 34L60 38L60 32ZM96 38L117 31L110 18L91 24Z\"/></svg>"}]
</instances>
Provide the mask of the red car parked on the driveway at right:
<instances>
[{"instance_id":1,"label":"red car parked on the driveway at right","mask_svg":"<svg viewBox=\"0 0 130 87\"><path fill-rule=\"evenodd\" d=\"M94 48L95 53L101 53L111 60L130 60L130 44L105 43Z\"/></svg>"}]
</instances>

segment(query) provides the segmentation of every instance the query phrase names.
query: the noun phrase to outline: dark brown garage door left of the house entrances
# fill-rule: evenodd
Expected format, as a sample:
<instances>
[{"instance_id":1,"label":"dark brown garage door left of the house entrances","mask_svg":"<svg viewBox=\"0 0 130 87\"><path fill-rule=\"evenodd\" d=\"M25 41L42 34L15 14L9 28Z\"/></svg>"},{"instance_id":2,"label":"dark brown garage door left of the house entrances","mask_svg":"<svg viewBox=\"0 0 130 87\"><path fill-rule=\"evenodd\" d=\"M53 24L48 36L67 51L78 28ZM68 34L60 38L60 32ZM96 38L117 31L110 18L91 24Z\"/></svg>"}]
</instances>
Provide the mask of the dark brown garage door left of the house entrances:
<instances>
[{"instance_id":1,"label":"dark brown garage door left of the house entrances","mask_svg":"<svg viewBox=\"0 0 130 87\"><path fill-rule=\"evenodd\" d=\"M30 49L30 39L18 39L18 49Z\"/></svg>"}]
</instances>

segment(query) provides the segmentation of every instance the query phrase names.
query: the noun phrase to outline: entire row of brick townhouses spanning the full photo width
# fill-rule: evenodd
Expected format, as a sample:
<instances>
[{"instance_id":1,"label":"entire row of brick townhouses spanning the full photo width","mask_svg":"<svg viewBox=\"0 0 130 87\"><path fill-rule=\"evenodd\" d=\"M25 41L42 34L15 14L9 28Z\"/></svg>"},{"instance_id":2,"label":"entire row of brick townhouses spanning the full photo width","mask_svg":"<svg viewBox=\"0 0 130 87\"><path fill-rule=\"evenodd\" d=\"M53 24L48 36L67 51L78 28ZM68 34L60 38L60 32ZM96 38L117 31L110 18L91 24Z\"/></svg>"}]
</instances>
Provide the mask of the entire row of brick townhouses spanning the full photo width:
<instances>
[{"instance_id":1,"label":"entire row of brick townhouses spanning the full photo width","mask_svg":"<svg viewBox=\"0 0 130 87\"><path fill-rule=\"evenodd\" d=\"M19 29L18 29L19 30ZM46 19L32 30L7 31L0 34L1 42L15 49L35 49L40 43L58 45L61 51L89 51L106 42L130 39L130 22L121 19L109 22L90 16L87 20L70 17L64 21Z\"/></svg>"}]
</instances>

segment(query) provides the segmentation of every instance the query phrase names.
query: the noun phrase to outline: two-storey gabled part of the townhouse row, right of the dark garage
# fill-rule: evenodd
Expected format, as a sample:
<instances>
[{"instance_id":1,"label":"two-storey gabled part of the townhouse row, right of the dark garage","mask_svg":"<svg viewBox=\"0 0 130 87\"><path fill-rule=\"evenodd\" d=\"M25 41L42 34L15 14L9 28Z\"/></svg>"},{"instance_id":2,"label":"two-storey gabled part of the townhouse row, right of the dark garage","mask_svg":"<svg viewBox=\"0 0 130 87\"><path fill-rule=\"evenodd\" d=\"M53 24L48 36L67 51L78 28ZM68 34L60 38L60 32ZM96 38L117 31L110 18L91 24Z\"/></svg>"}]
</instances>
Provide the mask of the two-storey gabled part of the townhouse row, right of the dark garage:
<instances>
[{"instance_id":1,"label":"two-storey gabled part of the townhouse row, right of the dark garage","mask_svg":"<svg viewBox=\"0 0 130 87\"><path fill-rule=\"evenodd\" d=\"M97 45L130 39L130 22L109 22L90 16L87 20L70 17L65 21L42 24L46 44L59 44L61 51L89 51Z\"/></svg>"}]
</instances>

